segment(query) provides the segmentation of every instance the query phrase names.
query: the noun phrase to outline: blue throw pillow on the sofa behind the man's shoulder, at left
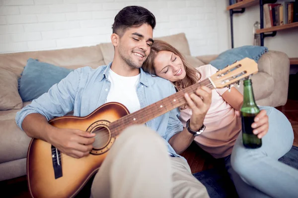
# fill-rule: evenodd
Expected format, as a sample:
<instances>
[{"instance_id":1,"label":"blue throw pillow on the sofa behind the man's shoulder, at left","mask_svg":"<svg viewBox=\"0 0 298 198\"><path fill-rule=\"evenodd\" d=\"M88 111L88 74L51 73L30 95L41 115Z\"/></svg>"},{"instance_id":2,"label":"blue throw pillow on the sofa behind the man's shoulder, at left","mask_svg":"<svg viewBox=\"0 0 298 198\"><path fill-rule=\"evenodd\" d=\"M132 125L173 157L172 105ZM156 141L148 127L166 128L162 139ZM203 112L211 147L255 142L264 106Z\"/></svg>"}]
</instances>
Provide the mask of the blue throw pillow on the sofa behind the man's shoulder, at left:
<instances>
[{"instance_id":1,"label":"blue throw pillow on the sofa behind the man's shoulder, at left","mask_svg":"<svg viewBox=\"0 0 298 198\"><path fill-rule=\"evenodd\" d=\"M55 66L29 58L21 77L18 79L19 95L24 101L37 99L59 83L73 69Z\"/></svg>"}]
</instances>

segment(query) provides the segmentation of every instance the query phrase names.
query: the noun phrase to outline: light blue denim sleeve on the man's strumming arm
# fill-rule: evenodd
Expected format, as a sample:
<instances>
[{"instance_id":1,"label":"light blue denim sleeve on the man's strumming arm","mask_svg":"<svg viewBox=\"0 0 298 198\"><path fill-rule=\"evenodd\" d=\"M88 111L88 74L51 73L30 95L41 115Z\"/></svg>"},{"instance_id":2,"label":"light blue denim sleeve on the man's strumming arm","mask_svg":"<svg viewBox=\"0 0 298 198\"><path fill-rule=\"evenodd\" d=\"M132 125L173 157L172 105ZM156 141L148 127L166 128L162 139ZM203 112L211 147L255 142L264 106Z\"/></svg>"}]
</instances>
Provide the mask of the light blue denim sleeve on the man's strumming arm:
<instances>
[{"instance_id":1,"label":"light blue denim sleeve on the man's strumming arm","mask_svg":"<svg viewBox=\"0 0 298 198\"><path fill-rule=\"evenodd\" d=\"M53 85L47 93L18 111L15 117L18 127L22 129L24 118L31 113L40 113L49 121L53 117L63 116L72 111L81 73L81 68L72 71L58 84Z\"/></svg>"}]
</instances>

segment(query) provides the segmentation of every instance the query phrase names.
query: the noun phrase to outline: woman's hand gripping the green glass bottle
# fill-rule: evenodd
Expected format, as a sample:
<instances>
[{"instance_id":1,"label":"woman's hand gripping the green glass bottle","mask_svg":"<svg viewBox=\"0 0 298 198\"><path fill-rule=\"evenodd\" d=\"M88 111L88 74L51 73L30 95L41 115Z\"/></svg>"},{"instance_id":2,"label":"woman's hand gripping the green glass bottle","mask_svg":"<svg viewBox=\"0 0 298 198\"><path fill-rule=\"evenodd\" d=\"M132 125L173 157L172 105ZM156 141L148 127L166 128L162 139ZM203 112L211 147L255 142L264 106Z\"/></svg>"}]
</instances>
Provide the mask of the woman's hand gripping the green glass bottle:
<instances>
[{"instance_id":1,"label":"woman's hand gripping the green glass bottle","mask_svg":"<svg viewBox=\"0 0 298 198\"><path fill-rule=\"evenodd\" d=\"M238 117L241 116L239 111L236 111ZM269 129L269 118L266 114L266 110L261 110L258 115L254 118L254 123L251 124L251 127L254 129L252 132L255 135L258 135L258 138L264 137Z\"/></svg>"}]
</instances>

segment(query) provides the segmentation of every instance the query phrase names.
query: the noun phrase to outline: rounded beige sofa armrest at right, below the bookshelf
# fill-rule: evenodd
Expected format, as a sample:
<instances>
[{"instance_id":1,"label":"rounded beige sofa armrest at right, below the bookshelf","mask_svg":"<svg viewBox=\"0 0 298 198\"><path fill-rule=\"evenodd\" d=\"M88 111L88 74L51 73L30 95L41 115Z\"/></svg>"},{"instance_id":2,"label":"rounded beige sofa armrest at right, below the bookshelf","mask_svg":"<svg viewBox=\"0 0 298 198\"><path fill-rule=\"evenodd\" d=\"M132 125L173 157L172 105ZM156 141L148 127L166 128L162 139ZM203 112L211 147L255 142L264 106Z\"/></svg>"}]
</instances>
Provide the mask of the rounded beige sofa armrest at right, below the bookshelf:
<instances>
[{"instance_id":1,"label":"rounded beige sofa armrest at right, below the bookshelf","mask_svg":"<svg viewBox=\"0 0 298 198\"><path fill-rule=\"evenodd\" d=\"M258 61L259 72L272 76L274 80L274 91L266 98L266 103L271 106L285 105L288 99L290 59L281 51L268 51ZM260 101L262 103L262 100Z\"/></svg>"}]
</instances>

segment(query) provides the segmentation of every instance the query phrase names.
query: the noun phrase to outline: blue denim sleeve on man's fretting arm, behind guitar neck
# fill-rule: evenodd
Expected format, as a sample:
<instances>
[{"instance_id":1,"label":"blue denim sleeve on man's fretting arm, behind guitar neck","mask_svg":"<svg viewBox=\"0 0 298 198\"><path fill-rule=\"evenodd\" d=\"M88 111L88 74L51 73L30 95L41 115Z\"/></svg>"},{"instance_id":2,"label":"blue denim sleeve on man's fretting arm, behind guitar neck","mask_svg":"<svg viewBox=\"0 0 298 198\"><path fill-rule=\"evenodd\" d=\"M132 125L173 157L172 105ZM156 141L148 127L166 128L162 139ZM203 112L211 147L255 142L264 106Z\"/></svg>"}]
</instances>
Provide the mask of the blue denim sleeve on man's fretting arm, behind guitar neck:
<instances>
[{"instance_id":1,"label":"blue denim sleeve on man's fretting arm, behind guitar neck","mask_svg":"<svg viewBox=\"0 0 298 198\"><path fill-rule=\"evenodd\" d=\"M176 90L172 84L170 84L169 87L170 95L175 94ZM179 120L179 109L174 108L173 110L169 111L169 120L166 127L165 136L163 137L167 142L175 135L176 133L179 133L183 130L183 124Z\"/></svg>"}]
</instances>

